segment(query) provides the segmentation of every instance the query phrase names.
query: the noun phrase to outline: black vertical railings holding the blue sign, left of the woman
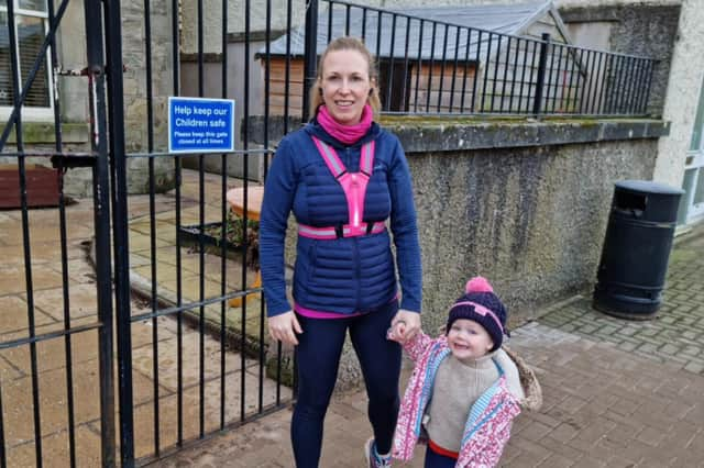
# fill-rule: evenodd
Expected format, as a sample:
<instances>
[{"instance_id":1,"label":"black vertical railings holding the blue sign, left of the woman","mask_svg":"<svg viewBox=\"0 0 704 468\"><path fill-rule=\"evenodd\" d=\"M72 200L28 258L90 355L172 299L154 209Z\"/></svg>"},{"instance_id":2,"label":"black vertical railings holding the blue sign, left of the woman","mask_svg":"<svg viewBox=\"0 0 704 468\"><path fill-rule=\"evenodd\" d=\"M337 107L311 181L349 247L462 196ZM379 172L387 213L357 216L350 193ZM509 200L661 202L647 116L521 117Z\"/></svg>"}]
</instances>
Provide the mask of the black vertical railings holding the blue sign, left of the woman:
<instances>
[{"instance_id":1,"label":"black vertical railings holding the blue sign, left of the woman","mask_svg":"<svg viewBox=\"0 0 704 468\"><path fill-rule=\"evenodd\" d=\"M145 64L151 64L153 58L153 48L156 47L157 40L155 35L161 31L154 25L156 12L148 13L148 0L144 0L144 56L152 57ZM293 9L292 0L288 0L287 14L290 15ZM253 83L251 79L251 68L256 64L251 60L240 60L237 54L230 49L230 42L227 31L229 30L229 19L232 18L234 8L223 0L219 4L219 14L206 14L202 2L194 2L193 16L193 40L190 44L184 44L182 36L183 24L179 19L174 15L170 24L168 41L173 44L170 59L177 64L184 60L184 48L194 51L193 62L189 69L184 70L184 66L176 66L170 70L173 73L173 89L169 96L193 96L198 98L232 98L232 83L235 82L242 91L244 99L237 102L239 109L242 110L241 118L246 121L252 113L251 107L260 104L262 113L265 116L264 122L268 121L268 79L270 66L268 62L263 60L263 88L264 105L250 99L254 92L252 88L258 86L260 82ZM172 12L179 10L179 2L173 0ZM234 11L235 16L242 19L243 41L241 47L244 56L250 55L254 41L251 38L251 22L254 8L260 8L263 18L263 36L264 43L270 42L272 35L272 13L274 9L271 0L257 2L244 1ZM119 19L116 14L113 19ZM207 19L212 21L207 22ZM289 22L290 24L290 22ZM213 36L210 31L215 27L219 29L218 35ZM117 26L116 26L117 27ZM208 37L217 38L210 43L208 48ZM107 37L109 51L116 51L125 42L122 34L117 31L111 32ZM134 44L132 44L134 47ZM114 47L114 48L113 48ZM134 48L132 49L134 51ZM208 71L208 54L218 54L219 67L216 71ZM163 57L162 57L163 58ZM237 74L232 74L231 66L237 62L241 68ZM125 64L130 69L131 65ZM153 67L163 66L163 63L156 62ZM122 69L122 63L111 64L111 69ZM186 76L187 75L187 76ZM163 77L162 77L163 78ZM254 271L248 268L250 264L251 248L249 230L250 223L248 218L253 209L251 192L261 189L258 181L252 181L248 177L251 167L254 166L253 160L258 163L260 159L266 171L267 157L273 152L268 145L254 146L250 144L250 135L246 126L242 127L242 134L238 135L238 149L227 154L201 154L194 153L168 153L160 140L160 134L155 130L154 115L155 109L160 104L160 99L164 96L158 94L156 87L152 85L160 82L158 76L152 71L152 65L147 65L143 69L142 76L135 76L140 83L140 88L145 90L145 94L140 97L143 99L146 112L135 116L123 115L122 104L114 103L112 112L114 119L122 121L131 121L132 124L139 125L144 130L146 135L145 142L132 142L131 151L123 149L124 159L119 159L119 153L116 154L118 164L125 165L146 163L148 174L147 201L148 201L148 274L146 277L150 283L142 294L147 299L150 308L143 313L130 313L129 304L124 303L120 310L123 315L119 316L120 324L124 330L119 336L124 336L124 347L129 344L130 330L142 324L152 326L153 337L151 343L152 356L152 383L151 398L146 405L140 405L134 401L132 389L136 386L134 380L135 371L132 370L132 357L128 352L119 350L118 359L121 363L120 368L125 369L121 374L123 381L120 382L120 392L123 398L120 399L120 416L121 416L121 460L125 466L134 464L148 464L155 459L162 458L175 450L178 450L195 441L204 439L210 435L241 425L253 419L260 417L272 411L285 408L292 400L292 392L283 382L282 363L283 349L280 344L272 346L266 344L265 339L265 309L263 301L250 302L248 298L260 297L261 287L252 286L254 282ZM208 86L208 78L217 80L216 86ZM185 82L188 82L189 91L184 91ZM114 100L122 102L122 96L116 93ZM124 134L124 131L120 131ZM264 136L267 140L268 125L264 125ZM145 143L145 144L144 144ZM164 159L173 159L175 204L173 211L155 210L155 198L157 190L155 180L157 179L155 163ZM228 176L229 168L234 164L241 164L242 176L234 179ZM190 193L184 193L184 166L188 165L195 175L190 178L190 182L195 188ZM217 178L208 175L209 171L219 172ZM229 242L226 229L230 216L231 207L227 200L227 193L233 186L242 189L242 243L233 246ZM130 207L132 200L127 194L121 196L125 207ZM215 202L213 202L215 199ZM184 207L184 201L188 203L190 209ZM255 210L256 211L256 210ZM183 244L183 231L186 227L184 215L190 218L196 232L195 242L190 246L190 254ZM160 229L160 219L169 218L174 223L168 226L168 232ZM127 215L125 215L127 218ZM222 229L217 235L215 242L217 247L215 250L218 255L210 255L206 245L206 227L209 224L220 224ZM128 224L122 221L113 221L113 226L120 230L127 230ZM114 229L114 227L113 227ZM175 245L174 269L175 288L173 291L173 300L165 301L163 290L167 289L163 283L163 279L169 276L170 267L160 261L163 249L160 249L158 238L168 238ZM123 248L131 252L132 247L128 247L128 238L121 236L117 231L114 233L116 241L123 238ZM195 252L193 252L195 249ZM184 257L190 259L189 266L186 267ZM237 256L237 260L230 257ZM116 258L118 254L116 253ZM129 271L129 255L122 256L119 260L124 265L123 270ZM187 271L196 272L196 277L190 276ZM189 283L190 282L190 283ZM217 285L215 285L217 283ZM215 288L211 288L215 286ZM234 300L240 300L240 305L231 305ZM164 330L164 324L158 319L174 319L176 324L177 346L173 349L163 349L160 344L158 336ZM235 324L235 325L233 325ZM168 328L168 325L166 325ZM190 348L190 352L187 349ZM240 352L234 357L233 349ZM169 375L164 377L165 382L160 383L160 374L164 369L160 369L161 359L172 359L176 375L175 382L168 382ZM270 369L271 366L271 369ZM270 374L271 371L271 374ZM163 387L173 387L169 392L164 392ZM175 404L170 404L170 397L176 398ZM146 409L145 406L151 406ZM148 413L148 419L143 419L140 423L139 413ZM165 436L165 425L169 420L176 420L175 434ZM131 427L130 432L128 428ZM140 441L139 434L144 434L148 439L148 445L144 441Z\"/></svg>"}]
</instances>

